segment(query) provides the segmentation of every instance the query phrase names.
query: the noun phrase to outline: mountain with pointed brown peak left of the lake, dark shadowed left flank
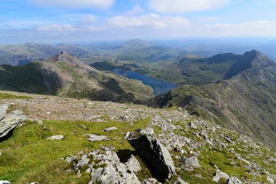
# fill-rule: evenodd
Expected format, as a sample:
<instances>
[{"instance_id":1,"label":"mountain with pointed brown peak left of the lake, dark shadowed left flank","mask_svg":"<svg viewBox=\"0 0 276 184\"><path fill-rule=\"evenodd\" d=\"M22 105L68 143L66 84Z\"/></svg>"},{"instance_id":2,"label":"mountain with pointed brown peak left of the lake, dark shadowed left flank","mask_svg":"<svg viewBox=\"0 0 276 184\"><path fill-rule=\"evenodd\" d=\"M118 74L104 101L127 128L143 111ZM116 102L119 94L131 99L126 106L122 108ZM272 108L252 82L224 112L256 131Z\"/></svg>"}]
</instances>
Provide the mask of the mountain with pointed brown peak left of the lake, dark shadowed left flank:
<instances>
[{"instance_id":1,"label":"mountain with pointed brown peak left of the lake, dark shadowed left flank","mask_svg":"<svg viewBox=\"0 0 276 184\"><path fill-rule=\"evenodd\" d=\"M149 86L110 72L95 70L66 52L28 65L3 65L0 79L1 90L93 100L134 101L147 99L152 95Z\"/></svg>"}]
</instances>

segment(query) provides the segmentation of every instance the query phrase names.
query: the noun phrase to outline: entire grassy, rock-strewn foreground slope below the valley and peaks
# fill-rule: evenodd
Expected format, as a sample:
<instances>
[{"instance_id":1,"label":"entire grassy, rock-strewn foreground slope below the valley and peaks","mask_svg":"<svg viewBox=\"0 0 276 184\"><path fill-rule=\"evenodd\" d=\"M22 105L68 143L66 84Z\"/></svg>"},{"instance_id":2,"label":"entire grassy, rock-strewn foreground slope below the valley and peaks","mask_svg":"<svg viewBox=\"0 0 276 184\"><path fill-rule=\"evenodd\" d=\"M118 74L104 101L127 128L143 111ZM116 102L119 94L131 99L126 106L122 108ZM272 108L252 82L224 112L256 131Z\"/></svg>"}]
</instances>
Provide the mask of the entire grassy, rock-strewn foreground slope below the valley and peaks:
<instances>
[{"instance_id":1,"label":"entire grassy, rock-strewn foreground slope below the valley and peaks","mask_svg":"<svg viewBox=\"0 0 276 184\"><path fill-rule=\"evenodd\" d=\"M12 125L12 134L0 137L0 183L274 183L276 179L274 150L181 108L1 93L9 94L0 99L3 111L21 110L27 120L20 112L24 123ZM4 120L1 114L0 110ZM0 132L3 137L7 134Z\"/></svg>"}]
</instances>

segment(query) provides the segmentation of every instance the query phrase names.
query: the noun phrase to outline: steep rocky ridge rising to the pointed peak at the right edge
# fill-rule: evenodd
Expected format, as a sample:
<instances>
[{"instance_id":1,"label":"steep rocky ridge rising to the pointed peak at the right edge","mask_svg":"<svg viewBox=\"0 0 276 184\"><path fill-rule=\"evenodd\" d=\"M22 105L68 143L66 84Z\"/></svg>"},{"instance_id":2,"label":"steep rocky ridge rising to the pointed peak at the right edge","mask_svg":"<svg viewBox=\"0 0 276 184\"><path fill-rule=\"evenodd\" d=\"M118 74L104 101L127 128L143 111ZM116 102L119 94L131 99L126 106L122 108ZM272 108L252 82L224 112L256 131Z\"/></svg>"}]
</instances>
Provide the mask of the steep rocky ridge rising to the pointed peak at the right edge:
<instances>
[{"instance_id":1,"label":"steep rocky ridge rising to the pointed peak at the right edge","mask_svg":"<svg viewBox=\"0 0 276 184\"><path fill-rule=\"evenodd\" d=\"M276 146L276 64L261 52L246 52L224 75L206 85L183 85L150 101L177 105L190 114L234 128Z\"/></svg>"}]
</instances>

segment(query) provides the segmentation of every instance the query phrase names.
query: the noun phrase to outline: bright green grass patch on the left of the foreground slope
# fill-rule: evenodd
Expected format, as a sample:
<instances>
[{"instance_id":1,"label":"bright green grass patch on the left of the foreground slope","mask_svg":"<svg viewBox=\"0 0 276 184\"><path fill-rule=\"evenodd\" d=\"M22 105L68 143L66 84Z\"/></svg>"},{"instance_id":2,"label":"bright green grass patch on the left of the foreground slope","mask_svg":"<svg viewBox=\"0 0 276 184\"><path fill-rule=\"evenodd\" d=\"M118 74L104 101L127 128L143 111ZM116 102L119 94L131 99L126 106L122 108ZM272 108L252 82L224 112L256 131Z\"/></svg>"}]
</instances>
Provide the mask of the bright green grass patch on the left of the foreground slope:
<instances>
[{"instance_id":1,"label":"bright green grass patch on the left of the foreground slope","mask_svg":"<svg viewBox=\"0 0 276 184\"><path fill-rule=\"evenodd\" d=\"M146 127L148 119L137 121L130 127L124 122L94 123L83 121L43 121L46 131L37 122L27 121L23 127L17 127L12 136L0 143L0 180L12 183L88 183L90 176L80 177L73 172L65 172L70 164L60 158L84 153L100 148L100 145L116 147L119 157L129 156L133 148L124 139L127 131ZM81 125L85 125L87 130ZM104 132L105 127L116 126L114 132ZM51 128L52 127L52 130ZM65 139L46 141L52 135L63 134ZM91 143L83 134L106 135L110 141ZM124 155L125 154L125 155ZM141 161L141 160L140 160ZM147 173L148 170L141 172ZM141 178L142 176L140 176Z\"/></svg>"}]
</instances>

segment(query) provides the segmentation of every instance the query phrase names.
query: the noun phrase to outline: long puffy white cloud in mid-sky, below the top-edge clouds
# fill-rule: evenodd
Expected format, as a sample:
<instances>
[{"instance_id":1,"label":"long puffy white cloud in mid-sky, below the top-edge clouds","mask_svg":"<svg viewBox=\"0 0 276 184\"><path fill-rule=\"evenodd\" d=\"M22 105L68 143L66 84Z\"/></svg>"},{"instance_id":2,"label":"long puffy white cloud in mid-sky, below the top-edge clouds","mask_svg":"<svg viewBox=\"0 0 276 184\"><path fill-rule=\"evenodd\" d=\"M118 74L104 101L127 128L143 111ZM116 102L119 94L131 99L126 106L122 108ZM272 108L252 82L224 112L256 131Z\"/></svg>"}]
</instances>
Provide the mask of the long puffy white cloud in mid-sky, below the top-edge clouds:
<instances>
[{"instance_id":1,"label":"long puffy white cloud in mid-sky, below the top-edge clouds","mask_svg":"<svg viewBox=\"0 0 276 184\"><path fill-rule=\"evenodd\" d=\"M187 25L184 17L161 17L158 14L143 14L136 17L117 16L106 20L112 28L167 28Z\"/></svg>"}]
</instances>

